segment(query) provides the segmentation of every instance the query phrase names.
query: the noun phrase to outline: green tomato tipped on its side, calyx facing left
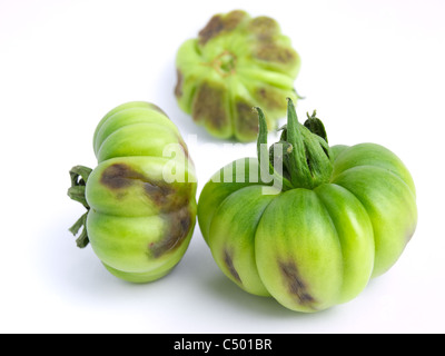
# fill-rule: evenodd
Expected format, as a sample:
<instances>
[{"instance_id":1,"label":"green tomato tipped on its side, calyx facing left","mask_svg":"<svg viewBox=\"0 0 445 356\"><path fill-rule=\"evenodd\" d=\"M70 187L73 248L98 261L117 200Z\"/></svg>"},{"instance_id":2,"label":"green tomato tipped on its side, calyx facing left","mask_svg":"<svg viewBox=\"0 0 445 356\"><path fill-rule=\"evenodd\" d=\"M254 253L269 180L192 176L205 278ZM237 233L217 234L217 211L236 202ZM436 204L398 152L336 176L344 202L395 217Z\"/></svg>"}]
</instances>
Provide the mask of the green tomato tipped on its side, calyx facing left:
<instances>
[{"instance_id":1,"label":"green tomato tipped on its side, calyx facing left","mask_svg":"<svg viewBox=\"0 0 445 356\"><path fill-rule=\"evenodd\" d=\"M157 106L135 101L99 122L98 166L71 170L69 196L88 209L70 229L105 267L134 283L156 280L182 258L196 224L196 175L177 127ZM171 154L175 157L171 158Z\"/></svg>"}]
</instances>

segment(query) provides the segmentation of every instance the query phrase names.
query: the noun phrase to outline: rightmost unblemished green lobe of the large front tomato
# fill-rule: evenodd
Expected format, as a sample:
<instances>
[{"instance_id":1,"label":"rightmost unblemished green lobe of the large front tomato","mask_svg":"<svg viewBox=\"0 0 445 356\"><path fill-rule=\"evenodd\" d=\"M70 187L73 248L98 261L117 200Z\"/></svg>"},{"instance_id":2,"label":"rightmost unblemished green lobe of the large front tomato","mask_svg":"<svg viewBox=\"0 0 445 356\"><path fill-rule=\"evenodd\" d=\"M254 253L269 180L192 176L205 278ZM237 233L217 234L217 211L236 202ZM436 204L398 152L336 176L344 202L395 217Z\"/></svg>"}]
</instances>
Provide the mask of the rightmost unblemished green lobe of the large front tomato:
<instances>
[{"instance_id":1,"label":"rightmost unblemished green lobe of the large front tomato","mask_svg":"<svg viewBox=\"0 0 445 356\"><path fill-rule=\"evenodd\" d=\"M354 166L346 164L354 161ZM335 161L333 184L353 192L365 207L374 229L373 276L387 271L402 255L417 225L413 178L397 156L382 146L362 144Z\"/></svg>"}]
</instances>

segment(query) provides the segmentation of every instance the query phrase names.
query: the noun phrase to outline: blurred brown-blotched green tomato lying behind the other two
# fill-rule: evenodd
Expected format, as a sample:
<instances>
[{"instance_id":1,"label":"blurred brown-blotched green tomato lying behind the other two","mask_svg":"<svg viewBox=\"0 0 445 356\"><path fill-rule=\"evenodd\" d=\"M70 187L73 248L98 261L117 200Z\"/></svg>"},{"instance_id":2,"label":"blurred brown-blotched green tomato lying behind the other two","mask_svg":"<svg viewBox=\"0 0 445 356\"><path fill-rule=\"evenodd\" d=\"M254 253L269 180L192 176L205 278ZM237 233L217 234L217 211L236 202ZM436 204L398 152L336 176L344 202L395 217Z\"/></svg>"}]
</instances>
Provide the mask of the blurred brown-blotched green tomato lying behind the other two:
<instances>
[{"instance_id":1,"label":"blurred brown-blotched green tomato lying behind the other two","mask_svg":"<svg viewBox=\"0 0 445 356\"><path fill-rule=\"evenodd\" d=\"M253 141L254 106L264 108L271 129L286 115L281 98L297 99L299 56L268 17L239 10L214 16L198 38L179 48L176 67L179 107L218 138Z\"/></svg>"}]
</instances>

